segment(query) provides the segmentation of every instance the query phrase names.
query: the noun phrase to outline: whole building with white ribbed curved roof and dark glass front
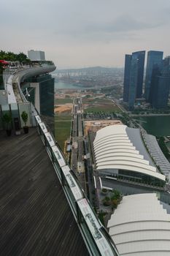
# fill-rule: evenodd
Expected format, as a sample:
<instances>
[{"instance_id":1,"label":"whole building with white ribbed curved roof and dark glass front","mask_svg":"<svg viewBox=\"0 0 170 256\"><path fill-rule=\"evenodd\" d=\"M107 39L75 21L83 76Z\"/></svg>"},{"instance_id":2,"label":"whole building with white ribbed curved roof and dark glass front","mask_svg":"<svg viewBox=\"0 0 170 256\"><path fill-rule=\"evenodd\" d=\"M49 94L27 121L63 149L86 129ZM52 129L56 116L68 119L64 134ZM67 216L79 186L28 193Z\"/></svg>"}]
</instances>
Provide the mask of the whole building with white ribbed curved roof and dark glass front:
<instances>
[{"instance_id":1,"label":"whole building with white ribbed curved roof and dark glass front","mask_svg":"<svg viewBox=\"0 0 170 256\"><path fill-rule=\"evenodd\" d=\"M155 166L143 143L140 129L125 125L104 127L93 141L99 176L164 187L166 177Z\"/></svg>"}]
</instances>

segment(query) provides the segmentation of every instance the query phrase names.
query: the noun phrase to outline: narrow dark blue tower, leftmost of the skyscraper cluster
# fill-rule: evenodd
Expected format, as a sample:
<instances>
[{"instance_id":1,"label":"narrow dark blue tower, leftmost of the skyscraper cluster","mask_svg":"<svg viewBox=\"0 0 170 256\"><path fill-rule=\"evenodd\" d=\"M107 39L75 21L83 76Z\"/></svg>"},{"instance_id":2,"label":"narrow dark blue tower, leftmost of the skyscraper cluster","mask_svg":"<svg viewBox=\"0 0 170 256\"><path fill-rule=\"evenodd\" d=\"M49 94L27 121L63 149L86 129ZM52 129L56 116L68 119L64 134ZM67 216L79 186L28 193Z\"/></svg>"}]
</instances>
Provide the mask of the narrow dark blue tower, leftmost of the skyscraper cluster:
<instances>
[{"instance_id":1,"label":"narrow dark blue tower, leftmost of the skyscraper cluster","mask_svg":"<svg viewBox=\"0 0 170 256\"><path fill-rule=\"evenodd\" d=\"M128 102L128 92L131 75L131 55L125 54L125 72L123 82L123 101Z\"/></svg>"}]
</instances>

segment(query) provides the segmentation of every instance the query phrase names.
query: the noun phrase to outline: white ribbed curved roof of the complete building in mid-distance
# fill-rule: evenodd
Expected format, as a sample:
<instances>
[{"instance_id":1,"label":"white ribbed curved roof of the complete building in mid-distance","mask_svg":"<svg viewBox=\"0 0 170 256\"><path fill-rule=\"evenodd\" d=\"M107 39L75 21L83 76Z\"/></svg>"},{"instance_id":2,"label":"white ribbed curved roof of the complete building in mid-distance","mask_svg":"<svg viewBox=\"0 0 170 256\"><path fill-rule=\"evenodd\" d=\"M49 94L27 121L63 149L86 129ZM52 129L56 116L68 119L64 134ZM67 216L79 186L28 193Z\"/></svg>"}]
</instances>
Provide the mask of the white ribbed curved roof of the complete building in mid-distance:
<instances>
[{"instance_id":1,"label":"white ribbed curved roof of the complete building in mid-distance","mask_svg":"<svg viewBox=\"0 0 170 256\"><path fill-rule=\"evenodd\" d=\"M128 128L125 125L104 127L96 132L93 146L96 170L132 170L165 181L165 176L158 173L153 164L139 129Z\"/></svg>"}]
</instances>

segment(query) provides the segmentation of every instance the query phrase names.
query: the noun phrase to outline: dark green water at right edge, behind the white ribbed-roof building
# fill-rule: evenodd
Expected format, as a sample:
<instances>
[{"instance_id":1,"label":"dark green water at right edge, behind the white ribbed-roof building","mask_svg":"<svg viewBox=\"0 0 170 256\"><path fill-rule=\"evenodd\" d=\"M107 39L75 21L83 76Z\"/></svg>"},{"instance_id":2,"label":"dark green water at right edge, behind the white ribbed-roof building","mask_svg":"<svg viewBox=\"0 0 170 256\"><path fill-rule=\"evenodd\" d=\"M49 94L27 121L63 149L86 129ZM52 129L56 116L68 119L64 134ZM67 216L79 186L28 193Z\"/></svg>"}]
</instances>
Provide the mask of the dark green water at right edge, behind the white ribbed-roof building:
<instances>
[{"instance_id":1,"label":"dark green water at right edge, behind the white ribbed-roof building","mask_svg":"<svg viewBox=\"0 0 170 256\"><path fill-rule=\"evenodd\" d=\"M146 131L155 136L170 136L170 116L134 117Z\"/></svg>"}]
</instances>

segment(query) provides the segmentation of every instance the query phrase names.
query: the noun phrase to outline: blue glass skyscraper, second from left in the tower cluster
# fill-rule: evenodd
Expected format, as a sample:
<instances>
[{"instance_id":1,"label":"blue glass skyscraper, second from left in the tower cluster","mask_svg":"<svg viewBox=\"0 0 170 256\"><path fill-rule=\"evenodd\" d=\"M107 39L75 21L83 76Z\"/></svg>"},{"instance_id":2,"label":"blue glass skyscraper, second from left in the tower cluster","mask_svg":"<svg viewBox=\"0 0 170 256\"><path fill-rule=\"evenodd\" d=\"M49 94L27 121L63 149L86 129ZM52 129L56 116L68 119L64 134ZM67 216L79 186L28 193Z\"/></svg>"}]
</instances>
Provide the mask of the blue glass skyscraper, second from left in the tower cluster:
<instances>
[{"instance_id":1,"label":"blue glass skyscraper, second from left in the tower cluster","mask_svg":"<svg viewBox=\"0 0 170 256\"><path fill-rule=\"evenodd\" d=\"M145 50L137 51L132 53L135 59L137 59L137 80L136 80L136 98L142 97L142 87L143 87L143 78L144 78L144 57Z\"/></svg>"}]
</instances>

